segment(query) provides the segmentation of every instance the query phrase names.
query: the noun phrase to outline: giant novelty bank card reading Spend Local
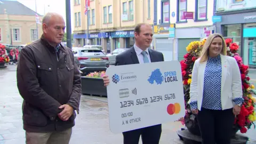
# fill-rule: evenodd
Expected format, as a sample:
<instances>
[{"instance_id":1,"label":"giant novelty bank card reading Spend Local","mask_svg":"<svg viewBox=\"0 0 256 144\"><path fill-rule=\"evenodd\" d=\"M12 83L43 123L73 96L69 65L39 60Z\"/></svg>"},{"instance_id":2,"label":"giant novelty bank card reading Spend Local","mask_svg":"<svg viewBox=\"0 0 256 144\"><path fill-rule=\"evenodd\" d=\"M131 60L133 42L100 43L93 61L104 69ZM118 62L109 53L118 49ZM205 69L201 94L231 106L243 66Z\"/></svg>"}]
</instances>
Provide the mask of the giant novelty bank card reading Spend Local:
<instances>
[{"instance_id":1,"label":"giant novelty bank card reading Spend Local","mask_svg":"<svg viewBox=\"0 0 256 144\"><path fill-rule=\"evenodd\" d=\"M112 66L106 71L109 125L114 133L177 121L185 116L178 61Z\"/></svg>"}]
</instances>

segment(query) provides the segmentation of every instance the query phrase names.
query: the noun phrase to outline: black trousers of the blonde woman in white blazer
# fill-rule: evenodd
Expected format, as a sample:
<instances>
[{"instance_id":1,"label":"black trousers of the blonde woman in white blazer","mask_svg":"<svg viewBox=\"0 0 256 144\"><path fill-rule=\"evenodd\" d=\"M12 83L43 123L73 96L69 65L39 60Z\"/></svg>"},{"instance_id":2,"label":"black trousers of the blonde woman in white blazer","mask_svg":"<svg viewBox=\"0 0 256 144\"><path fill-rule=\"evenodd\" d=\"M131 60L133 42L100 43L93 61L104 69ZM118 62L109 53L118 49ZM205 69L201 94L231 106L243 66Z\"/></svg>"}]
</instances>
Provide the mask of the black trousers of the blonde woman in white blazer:
<instances>
[{"instance_id":1,"label":"black trousers of the blonde woman in white blazer","mask_svg":"<svg viewBox=\"0 0 256 144\"><path fill-rule=\"evenodd\" d=\"M202 108L197 115L202 144L230 144L235 121L233 109L211 110Z\"/></svg>"}]
</instances>

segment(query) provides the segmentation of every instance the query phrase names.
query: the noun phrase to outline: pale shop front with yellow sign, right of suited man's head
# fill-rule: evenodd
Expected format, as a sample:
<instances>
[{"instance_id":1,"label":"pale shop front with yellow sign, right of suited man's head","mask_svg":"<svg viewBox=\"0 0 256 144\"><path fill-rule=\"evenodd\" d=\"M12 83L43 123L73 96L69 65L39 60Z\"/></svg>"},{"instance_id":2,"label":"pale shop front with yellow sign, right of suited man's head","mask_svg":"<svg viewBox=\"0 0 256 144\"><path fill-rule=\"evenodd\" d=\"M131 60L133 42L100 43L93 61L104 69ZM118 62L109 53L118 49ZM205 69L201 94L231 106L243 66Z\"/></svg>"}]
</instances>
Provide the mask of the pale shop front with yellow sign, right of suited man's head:
<instances>
[{"instance_id":1,"label":"pale shop front with yellow sign, right of suited man's head","mask_svg":"<svg viewBox=\"0 0 256 144\"><path fill-rule=\"evenodd\" d=\"M161 23L154 26L153 45L151 49L162 52L165 61L175 60L174 37L175 24Z\"/></svg>"}]
</instances>

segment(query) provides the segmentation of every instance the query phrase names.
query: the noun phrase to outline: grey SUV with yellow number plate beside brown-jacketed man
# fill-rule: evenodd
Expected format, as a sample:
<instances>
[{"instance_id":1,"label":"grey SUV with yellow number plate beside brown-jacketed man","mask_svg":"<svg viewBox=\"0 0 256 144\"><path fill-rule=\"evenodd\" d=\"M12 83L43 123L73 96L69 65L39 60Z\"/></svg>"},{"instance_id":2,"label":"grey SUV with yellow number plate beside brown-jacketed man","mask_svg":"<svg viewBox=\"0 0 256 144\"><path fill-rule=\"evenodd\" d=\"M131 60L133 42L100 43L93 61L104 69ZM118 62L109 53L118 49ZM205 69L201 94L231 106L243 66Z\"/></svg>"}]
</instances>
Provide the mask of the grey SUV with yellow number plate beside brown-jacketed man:
<instances>
[{"instance_id":1,"label":"grey SUV with yellow number plate beside brown-jacketed man","mask_svg":"<svg viewBox=\"0 0 256 144\"><path fill-rule=\"evenodd\" d=\"M72 51L82 75L105 71L109 67L108 57L97 48L72 47Z\"/></svg>"}]
</instances>

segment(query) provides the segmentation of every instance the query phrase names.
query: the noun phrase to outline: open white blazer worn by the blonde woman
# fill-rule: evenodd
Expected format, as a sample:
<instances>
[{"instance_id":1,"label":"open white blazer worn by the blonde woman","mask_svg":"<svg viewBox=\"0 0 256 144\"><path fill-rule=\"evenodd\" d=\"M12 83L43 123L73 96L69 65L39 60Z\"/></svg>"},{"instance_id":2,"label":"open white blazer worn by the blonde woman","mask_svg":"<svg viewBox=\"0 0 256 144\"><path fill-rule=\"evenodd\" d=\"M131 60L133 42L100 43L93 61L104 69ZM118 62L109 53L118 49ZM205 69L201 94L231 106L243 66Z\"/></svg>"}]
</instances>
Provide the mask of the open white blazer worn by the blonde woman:
<instances>
[{"instance_id":1,"label":"open white blazer worn by the blonde woman","mask_svg":"<svg viewBox=\"0 0 256 144\"><path fill-rule=\"evenodd\" d=\"M188 103L197 101L197 108L201 110L204 90L204 71L206 63L197 59L192 70L190 84L190 99ZM236 59L221 54L221 106L222 110L233 108L235 98L243 98L241 73ZM214 95L213 95L214 97Z\"/></svg>"}]
</instances>

